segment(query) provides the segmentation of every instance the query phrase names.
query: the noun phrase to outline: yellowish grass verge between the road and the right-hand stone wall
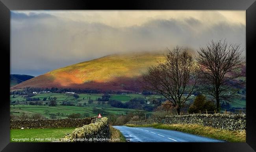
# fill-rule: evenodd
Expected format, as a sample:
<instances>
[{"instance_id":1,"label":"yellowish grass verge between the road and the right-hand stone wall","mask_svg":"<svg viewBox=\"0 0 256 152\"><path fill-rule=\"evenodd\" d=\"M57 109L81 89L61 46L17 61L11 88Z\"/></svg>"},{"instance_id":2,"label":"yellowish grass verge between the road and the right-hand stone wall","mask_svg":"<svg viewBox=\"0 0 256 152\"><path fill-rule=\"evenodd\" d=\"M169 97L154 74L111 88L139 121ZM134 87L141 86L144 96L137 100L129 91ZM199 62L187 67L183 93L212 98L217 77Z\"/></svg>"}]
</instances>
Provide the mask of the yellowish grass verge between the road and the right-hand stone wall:
<instances>
[{"instance_id":1,"label":"yellowish grass verge between the road and the right-hand stone wall","mask_svg":"<svg viewBox=\"0 0 256 152\"><path fill-rule=\"evenodd\" d=\"M213 127L206 127L197 124L172 124L172 125L132 125L127 124L128 127L153 127L158 129L176 130L186 132L189 134L200 135L208 138L214 138L229 142L246 142L246 131L231 131L224 129L217 129Z\"/></svg>"}]
</instances>

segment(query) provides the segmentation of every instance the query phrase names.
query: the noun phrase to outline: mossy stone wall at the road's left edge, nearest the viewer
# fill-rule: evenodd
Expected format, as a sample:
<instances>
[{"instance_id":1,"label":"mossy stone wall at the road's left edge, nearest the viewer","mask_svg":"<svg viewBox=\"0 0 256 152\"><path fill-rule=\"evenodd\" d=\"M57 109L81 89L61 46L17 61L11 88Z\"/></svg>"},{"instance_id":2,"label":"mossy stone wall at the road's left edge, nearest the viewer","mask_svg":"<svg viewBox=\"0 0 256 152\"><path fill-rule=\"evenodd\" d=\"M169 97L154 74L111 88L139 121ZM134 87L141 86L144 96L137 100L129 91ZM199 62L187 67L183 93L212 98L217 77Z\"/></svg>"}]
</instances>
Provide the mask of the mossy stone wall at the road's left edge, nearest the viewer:
<instances>
[{"instance_id":1,"label":"mossy stone wall at the road's left edge, nearest the viewer","mask_svg":"<svg viewBox=\"0 0 256 152\"><path fill-rule=\"evenodd\" d=\"M95 123L84 125L73 130L62 138L64 142L108 142L110 138L108 118L96 119Z\"/></svg>"}]
</instances>

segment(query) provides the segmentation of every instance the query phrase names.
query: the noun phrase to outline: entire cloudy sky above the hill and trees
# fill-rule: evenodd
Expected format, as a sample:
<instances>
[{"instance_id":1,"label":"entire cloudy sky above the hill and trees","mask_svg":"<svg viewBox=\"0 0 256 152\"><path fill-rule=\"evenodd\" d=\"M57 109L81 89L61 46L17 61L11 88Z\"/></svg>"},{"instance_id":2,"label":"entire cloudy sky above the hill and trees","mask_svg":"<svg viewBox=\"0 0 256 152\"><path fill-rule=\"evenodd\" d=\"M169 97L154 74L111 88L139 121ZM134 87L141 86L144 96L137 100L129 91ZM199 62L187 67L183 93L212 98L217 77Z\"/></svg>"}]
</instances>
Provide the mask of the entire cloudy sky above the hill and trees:
<instances>
[{"instance_id":1,"label":"entire cloudy sky above the hill and trees","mask_svg":"<svg viewBox=\"0 0 256 152\"><path fill-rule=\"evenodd\" d=\"M11 74L39 76L111 54L197 51L226 39L245 49L245 11L11 11Z\"/></svg>"}]
</instances>

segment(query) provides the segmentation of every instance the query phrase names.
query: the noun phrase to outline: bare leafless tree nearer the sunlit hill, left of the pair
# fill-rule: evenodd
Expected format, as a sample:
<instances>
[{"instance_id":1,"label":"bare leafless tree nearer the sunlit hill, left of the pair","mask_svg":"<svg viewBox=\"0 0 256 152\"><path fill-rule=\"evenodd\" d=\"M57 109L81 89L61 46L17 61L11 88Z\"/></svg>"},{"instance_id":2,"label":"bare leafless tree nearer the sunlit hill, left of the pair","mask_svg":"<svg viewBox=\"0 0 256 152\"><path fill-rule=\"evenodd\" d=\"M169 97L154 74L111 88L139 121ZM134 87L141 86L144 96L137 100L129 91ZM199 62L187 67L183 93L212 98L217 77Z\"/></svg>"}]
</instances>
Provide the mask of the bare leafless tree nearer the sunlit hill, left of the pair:
<instances>
[{"instance_id":1,"label":"bare leafless tree nearer the sunlit hill, left of the pair","mask_svg":"<svg viewBox=\"0 0 256 152\"><path fill-rule=\"evenodd\" d=\"M158 61L157 66L150 67L148 73L143 75L143 88L163 95L180 114L180 109L196 88L195 68L187 49L179 46L174 47L173 51L168 49L165 62Z\"/></svg>"}]
</instances>

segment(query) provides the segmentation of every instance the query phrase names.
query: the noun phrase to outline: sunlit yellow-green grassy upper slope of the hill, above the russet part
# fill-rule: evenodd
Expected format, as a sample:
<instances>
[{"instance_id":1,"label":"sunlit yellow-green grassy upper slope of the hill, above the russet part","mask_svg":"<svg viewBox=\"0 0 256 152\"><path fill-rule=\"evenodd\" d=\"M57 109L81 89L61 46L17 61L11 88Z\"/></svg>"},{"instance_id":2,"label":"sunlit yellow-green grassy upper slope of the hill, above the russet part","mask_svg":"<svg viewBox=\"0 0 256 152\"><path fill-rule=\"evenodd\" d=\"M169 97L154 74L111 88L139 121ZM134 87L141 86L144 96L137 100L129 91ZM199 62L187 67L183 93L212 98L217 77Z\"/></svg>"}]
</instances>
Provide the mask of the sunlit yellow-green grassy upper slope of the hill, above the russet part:
<instances>
[{"instance_id":1,"label":"sunlit yellow-green grassy upper slope of the hill, above the russet part","mask_svg":"<svg viewBox=\"0 0 256 152\"><path fill-rule=\"evenodd\" d=\"M163 59L162 54L112 55L56 69L50 73L56 76L61 72L69 72L74 73L83 82L104 82L120 76L130 78L138 76L141 72L145 72L148 66L156 65L155 60L161 59Z\"/></svg>"}]
</instances>

